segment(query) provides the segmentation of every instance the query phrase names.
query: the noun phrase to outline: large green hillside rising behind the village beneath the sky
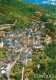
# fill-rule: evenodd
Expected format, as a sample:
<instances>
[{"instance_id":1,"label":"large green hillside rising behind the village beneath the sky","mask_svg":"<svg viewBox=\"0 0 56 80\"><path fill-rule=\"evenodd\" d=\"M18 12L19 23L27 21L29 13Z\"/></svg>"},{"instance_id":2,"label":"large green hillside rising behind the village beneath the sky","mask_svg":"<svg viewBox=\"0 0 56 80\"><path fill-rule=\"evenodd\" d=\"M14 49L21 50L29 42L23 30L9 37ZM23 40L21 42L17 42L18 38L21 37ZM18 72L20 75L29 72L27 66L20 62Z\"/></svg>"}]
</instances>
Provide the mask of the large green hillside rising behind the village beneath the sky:
<instances>
[{"instance_id":1,"label":"large green hillside rising behind the village beneath the sky","mask_svg":"<svg viewBox=\"0 0 56 80\"><path fill-rule=\"evenodd\" d=\"M38 17L51 15L48 10L36 4L19 0L0 1L0 24L13 24L17 19L16 29L31 24Z\"/></svg>"}]
</instances>

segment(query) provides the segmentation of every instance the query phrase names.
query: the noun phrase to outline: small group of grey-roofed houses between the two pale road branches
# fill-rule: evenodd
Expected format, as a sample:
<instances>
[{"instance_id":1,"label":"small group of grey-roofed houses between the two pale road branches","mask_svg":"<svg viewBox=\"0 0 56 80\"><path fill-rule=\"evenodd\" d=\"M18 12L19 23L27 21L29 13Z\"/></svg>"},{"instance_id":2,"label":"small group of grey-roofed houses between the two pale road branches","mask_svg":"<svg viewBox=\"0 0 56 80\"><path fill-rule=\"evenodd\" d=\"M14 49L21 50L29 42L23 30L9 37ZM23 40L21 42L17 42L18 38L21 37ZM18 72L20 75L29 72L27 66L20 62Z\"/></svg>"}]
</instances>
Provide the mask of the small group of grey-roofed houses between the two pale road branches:
<instances>
[{"instance_id":1,"label":"small group of grey-roofed houses between the two pale road branches","mask_svg":"<svg viewBox=\"0 0 56 80\"><path fill-rule=\"evenodd\" d=\"M21 52L18 63L27 66L27 61L32 61L31 47L24 48L23 52Z\"/></svg>"}]
</instances>

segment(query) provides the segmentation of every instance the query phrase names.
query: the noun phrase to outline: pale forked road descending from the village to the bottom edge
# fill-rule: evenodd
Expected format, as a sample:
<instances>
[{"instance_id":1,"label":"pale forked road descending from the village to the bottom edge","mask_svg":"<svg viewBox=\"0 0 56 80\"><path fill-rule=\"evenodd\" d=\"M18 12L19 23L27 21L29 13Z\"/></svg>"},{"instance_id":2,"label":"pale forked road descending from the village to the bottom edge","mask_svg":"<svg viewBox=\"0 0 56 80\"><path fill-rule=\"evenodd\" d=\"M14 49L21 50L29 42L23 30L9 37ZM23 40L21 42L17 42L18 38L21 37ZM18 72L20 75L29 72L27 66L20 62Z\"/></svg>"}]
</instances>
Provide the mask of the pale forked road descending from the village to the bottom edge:
<instances>
[{"instance_id":1,"label":"pale forked road descending from the village to the bottom edge","mask_svg":"<svg viewBox=\"0 0 56 80\"><path fill-rule=\"evenodd\" d=\"M26 52L26 53L28 53L28 51L29 51L29 48L23 47L21 52ZM11 69L14 67L14 65L15 65L15 64L17 63L17 61L19 60L20 55L21 55L21 52L20 52L20 54L18 55L18 57L15 59L15 61L14 61L12 64L9 64L9 68L6 69L5 75L6 75L6 77L8 78L8 80L11 80L11 79L10 79L10 76L9 76L9 75L10 75L10 72L11 72ZM27 55L28 55L28 54L27 54ZM26 55L26 65L27 65L27 55ZM23 67L23 69L22 69L22 80L23 80L23 76L24 76L24 67Z\"/></svg>"}]
</instances>

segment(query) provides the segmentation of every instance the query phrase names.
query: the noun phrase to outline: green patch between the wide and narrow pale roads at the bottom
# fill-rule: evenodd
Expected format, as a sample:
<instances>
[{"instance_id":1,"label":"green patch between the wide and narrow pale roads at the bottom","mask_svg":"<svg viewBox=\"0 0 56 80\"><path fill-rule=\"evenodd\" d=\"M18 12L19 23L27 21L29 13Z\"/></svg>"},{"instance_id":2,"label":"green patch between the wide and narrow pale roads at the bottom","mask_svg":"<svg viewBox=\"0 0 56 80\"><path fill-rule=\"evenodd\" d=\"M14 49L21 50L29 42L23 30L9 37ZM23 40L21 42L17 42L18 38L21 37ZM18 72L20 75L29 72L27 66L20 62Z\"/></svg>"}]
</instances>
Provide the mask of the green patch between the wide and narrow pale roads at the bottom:
<instances>
[{"instance_id":1,"label":"green patch between the wide and narrow pale roads at the bottom","mask_svg":"<svg viewBox=\"0 0 56 80\"><path fill-rule=\"evenodd\" d=\"M17 63L15 66L12 68L11 73L10 73L10 78L11 80L21 80L21 69L22 65L18 65Z\"/></svg>"}]
</instances>

